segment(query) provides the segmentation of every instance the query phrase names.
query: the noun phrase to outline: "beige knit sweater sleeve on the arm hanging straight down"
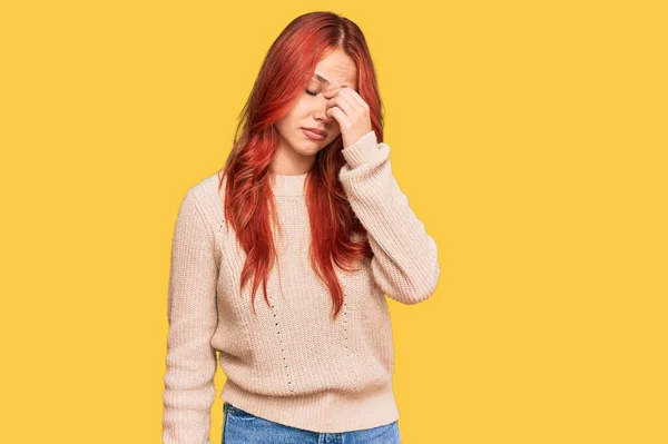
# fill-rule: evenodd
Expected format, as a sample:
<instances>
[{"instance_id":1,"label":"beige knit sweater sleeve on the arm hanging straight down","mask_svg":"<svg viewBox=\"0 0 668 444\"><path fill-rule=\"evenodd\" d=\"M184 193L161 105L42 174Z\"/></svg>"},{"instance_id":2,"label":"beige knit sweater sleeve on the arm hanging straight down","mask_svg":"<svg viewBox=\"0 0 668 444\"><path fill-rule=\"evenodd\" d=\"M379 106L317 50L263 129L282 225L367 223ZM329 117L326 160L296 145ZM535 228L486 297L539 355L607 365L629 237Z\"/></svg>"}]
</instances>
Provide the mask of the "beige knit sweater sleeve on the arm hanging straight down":
<instances>
[{"instance_id":1,"label":"beige knit sweater sleeve on the arm hanging straight down","mask_svg":"<svg viewBox=\"0 0 668 444\"><path fill-rule=\"evenodd\" d=\"M216 396L217 326L214 238L193 190L184 197L174 231L163 394L163 443L210 444L210 407Z\"/></svg>"}]
</instances>

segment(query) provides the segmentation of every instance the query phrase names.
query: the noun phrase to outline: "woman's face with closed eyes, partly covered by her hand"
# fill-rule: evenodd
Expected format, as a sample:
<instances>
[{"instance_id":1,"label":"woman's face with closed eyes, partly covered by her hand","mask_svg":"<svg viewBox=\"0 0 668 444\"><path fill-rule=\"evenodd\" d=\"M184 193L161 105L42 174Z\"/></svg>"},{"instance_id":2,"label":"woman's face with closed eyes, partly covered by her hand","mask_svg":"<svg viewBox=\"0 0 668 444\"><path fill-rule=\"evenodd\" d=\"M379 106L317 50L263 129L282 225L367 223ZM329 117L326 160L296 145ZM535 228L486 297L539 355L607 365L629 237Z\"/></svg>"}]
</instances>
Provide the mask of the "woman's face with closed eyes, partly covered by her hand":
<instances>
[{"instance_id":1,"label":"woman's face with closed eyes, partly covered by her hand","mask_svg":"<svg viewBox=\"0 0 668 444\"><path fill-rule=\"evenodd\" d=\"M275 124L279 138L274 159L277 172L305 172L313 165L316 152L341 134L336 119L325 116L327 99L324 92L344 85L357 90L357 67L351 57L336 49L321 58L289 114ZM327 135L324 139L313 138L304 132L304 128L315 128Z\"/></svg>"}]
</instances>

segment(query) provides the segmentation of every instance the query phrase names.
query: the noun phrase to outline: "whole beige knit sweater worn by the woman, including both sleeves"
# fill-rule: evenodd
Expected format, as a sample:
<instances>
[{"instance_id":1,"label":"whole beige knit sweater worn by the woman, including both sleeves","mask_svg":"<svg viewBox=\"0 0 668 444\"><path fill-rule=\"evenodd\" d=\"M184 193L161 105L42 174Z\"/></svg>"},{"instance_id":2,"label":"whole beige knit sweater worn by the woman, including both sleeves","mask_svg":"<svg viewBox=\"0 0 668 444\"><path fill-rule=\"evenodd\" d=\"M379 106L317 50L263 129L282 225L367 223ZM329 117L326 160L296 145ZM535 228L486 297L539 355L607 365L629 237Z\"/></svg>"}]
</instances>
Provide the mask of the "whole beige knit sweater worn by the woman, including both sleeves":
<instances>
[{"instance_id":1,"label":"whole beige knit sweater worn by the woman, including both sleeves","mask_svg":"<svg viewBox=\"0 0 668 444\"><path fill-rule=\"evenodd\" d=\"M276 245L281 276L276 267L269 274L271 306L258 288L257 315L250 285L239 290L246 256L232 226L225 228L218 174L186 193L171 247L165 444L210 444L216 352L227 377L220 398L256 416L321 433L399 418L385 295L402 304L432 295L440 275L436 245L392 175L390 147L374 131L343 155L340 180L375 256L357 272L335 265L345 298L336 320L308 259L306 174L276 175L272 185L284 229Z\"/></svg>"}]
</instances>

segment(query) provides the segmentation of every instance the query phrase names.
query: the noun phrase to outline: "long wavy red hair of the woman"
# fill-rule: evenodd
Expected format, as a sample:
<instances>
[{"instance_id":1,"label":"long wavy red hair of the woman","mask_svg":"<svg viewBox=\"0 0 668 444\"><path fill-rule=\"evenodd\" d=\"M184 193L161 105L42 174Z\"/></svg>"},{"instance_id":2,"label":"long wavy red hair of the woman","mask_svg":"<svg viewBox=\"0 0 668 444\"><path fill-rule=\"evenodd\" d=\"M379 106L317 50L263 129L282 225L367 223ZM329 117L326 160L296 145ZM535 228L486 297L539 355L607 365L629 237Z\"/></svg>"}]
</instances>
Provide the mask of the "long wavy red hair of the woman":
<instances>
[{"instance_id":1,"label":"long wavy red hair of the woman","mask_svg":"<svg viewBox=\"0 0 668 444\"><path fill-rule=\"evenodd\" d=\"M218 189L227 177L225 223L234 227L247 258L242 270L242 288L254 273L252 305L263 283L267 298L267 276L276 258L272 223L278 226L271 189L271 162L277 152L274 124L287 115L307 87L321 57L341 49L357 66L358 93L370 108L372 128L383 140L382 102L371 53L361 29L333 12L310 12L294 19L269 48L240 119ZM240 129L243 126L243 129ZM239 136L239 130L240 136ZM366 229L353 213L338 171L345 165L341 135L321 149L306 176L305 199L311 219L311 262L316 275L332 295L334 318L343 305L343 290L334 264L347 272L364 257L373 257L365 239ZM322 215L331 215L323 217ZM361 235L354 240L353 235Z\"/></svg>"}]
</instances>

